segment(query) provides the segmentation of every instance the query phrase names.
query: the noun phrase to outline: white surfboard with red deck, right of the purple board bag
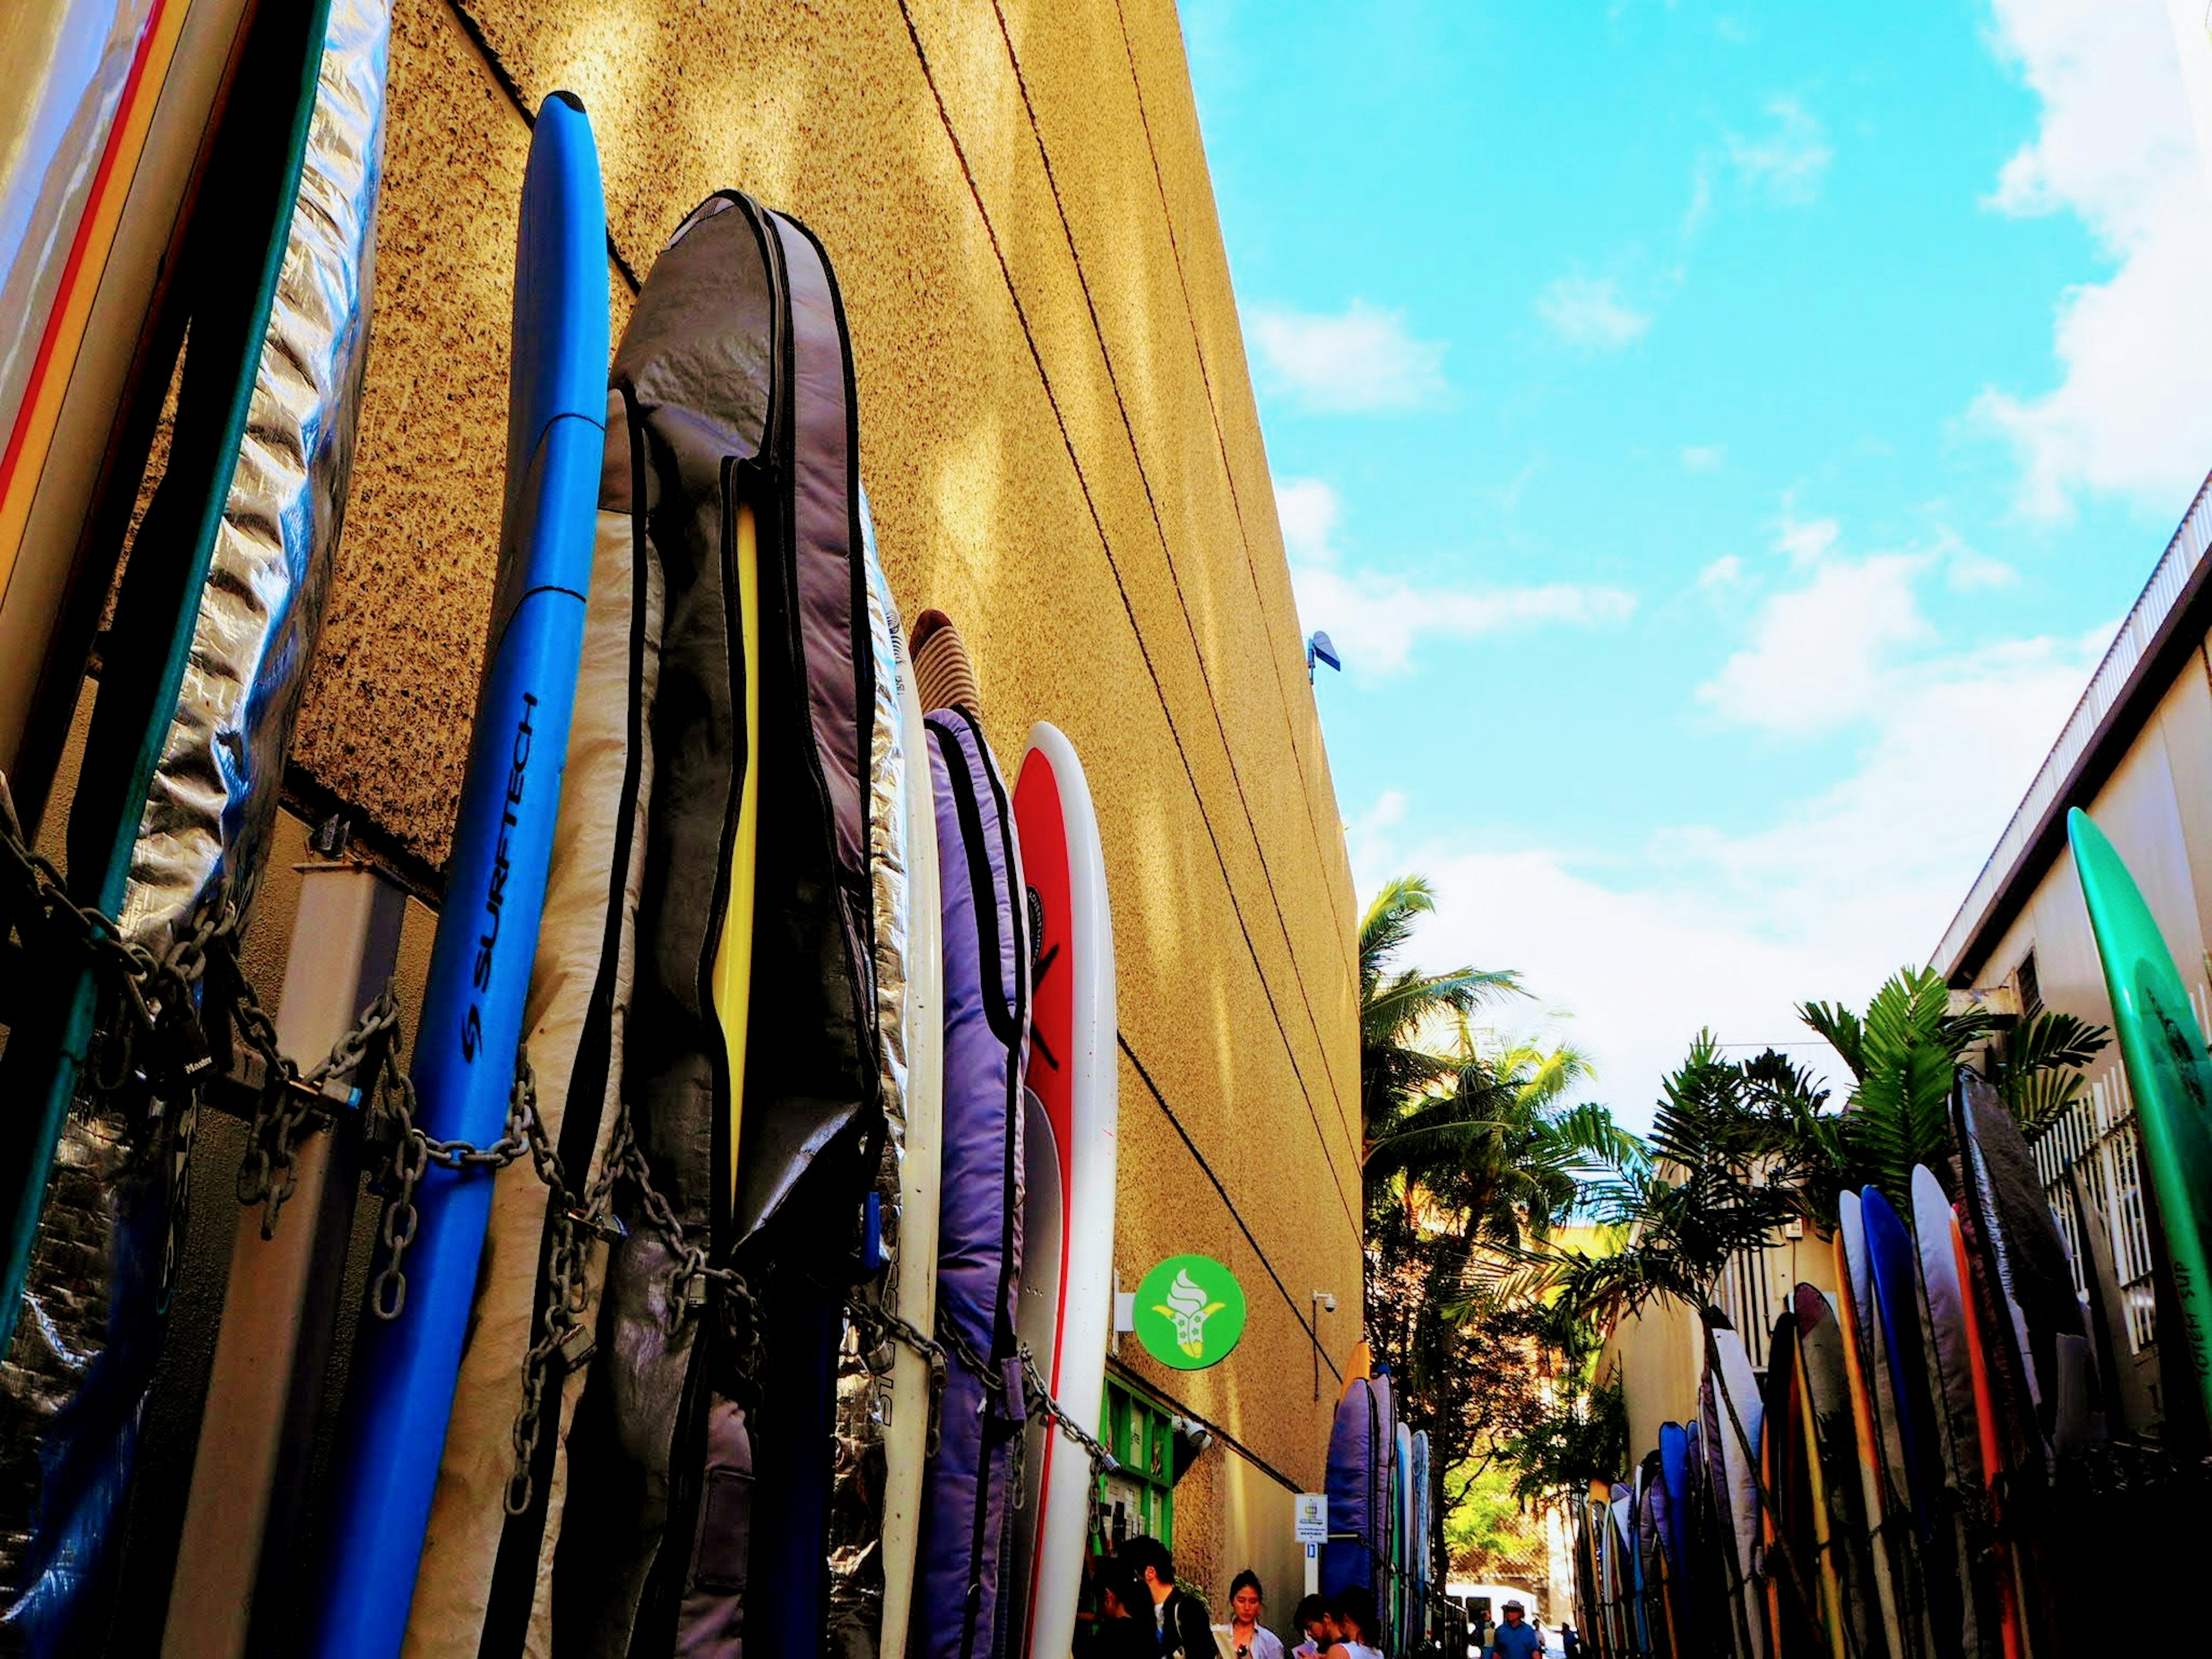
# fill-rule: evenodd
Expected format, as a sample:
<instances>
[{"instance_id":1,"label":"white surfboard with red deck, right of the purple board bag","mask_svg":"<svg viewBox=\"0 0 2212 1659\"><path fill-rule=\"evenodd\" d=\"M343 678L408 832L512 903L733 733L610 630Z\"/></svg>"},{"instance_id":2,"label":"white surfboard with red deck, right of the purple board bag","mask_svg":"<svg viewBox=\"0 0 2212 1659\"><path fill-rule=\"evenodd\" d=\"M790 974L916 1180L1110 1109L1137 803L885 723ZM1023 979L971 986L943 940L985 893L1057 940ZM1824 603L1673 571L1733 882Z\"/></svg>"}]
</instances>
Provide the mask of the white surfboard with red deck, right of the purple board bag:
<instances>
[{"instance_id":1,"label":"white surfboard with red deck, right of the purple board bag","mask_svg":"<svg viewBox=\"0 0 2212 1659\"><path fill-rule=\"evenodd\" d=\"M1013 785L1013 821L1033 938L1029 1088L1051 1126L1060 1199L1057 1206L1040 1203L1031 1179L1020 1325L1053 1398L1097 1433L1113 1325L1119 1119L1113 914L1091 785L1075 748L1053 726L1029 730L1029 752ZM1026 1639L1013 1650L1066 1659L1091 1528L1091 1460L1064 1431L1040 1429L1029 1475L1035 1482L1033 1522L1018 1555L1026 1566L1018 1566Z\"/></svg>"}]
</instances>

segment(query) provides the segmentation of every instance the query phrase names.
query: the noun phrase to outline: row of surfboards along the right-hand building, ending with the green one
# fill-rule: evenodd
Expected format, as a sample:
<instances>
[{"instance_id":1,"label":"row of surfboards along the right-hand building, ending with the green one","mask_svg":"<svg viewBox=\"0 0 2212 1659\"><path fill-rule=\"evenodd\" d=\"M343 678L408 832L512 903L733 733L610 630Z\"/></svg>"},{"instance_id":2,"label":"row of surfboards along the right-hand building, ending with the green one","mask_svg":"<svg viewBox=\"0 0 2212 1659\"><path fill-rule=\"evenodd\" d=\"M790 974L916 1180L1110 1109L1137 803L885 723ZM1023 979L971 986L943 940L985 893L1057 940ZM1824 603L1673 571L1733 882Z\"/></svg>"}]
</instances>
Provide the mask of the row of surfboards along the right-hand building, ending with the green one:
<instances>
[{"instance_id":1,"label":"row of surfboards along the right-hand building, ending with the green one","mask_svg":"<svg viewBox=\"0 0 2212 1659\"><path fill-rule=\"evenodd\" d=\"M1942 1168L1838 1194L1836 1290L1794 1287L1763 1371L1708 1314L1694 1420L1575 1504L1601 1659L2053 1659L2101 1652L2115 1608L2166 1628L2194 1601L2212 1060L2126 863L2079 810L2068 841L2132 1133L2051 1179L1962 1068ZM2150 1221L2159 1402L2117 1206Z\"/></svg>"}]
</instances>

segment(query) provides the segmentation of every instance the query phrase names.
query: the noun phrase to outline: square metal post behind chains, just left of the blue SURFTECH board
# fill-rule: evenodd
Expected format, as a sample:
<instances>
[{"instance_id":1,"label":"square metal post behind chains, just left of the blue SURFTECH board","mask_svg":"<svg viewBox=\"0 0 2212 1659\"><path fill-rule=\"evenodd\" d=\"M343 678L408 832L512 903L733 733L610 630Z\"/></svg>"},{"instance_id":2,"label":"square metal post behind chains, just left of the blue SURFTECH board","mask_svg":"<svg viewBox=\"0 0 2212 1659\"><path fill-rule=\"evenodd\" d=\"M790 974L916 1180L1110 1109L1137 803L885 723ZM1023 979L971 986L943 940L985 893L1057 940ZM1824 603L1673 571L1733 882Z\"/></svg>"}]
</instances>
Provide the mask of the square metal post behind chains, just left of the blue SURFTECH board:
<instances>
[{"instance_id":1,"label":"square metal post behind chains, just left of the blue SURFTECH board","mask_svg":"<svg viewBox=\"0 0 2212 1659\"><path fill-rule=\"evenodd\" d=\"M276 1042L314 1057L392 980L407 894L356 865L310 865L303 876ZM296 1553L301 1493L276 1484L314 1433L361 1183L358 1137L307 1137L294 1179L274 1239L261 1237L261 1206L239 1210L161 1659L239 1659L263 1542L272 1573Z\"/></svg>"}]
</instances>

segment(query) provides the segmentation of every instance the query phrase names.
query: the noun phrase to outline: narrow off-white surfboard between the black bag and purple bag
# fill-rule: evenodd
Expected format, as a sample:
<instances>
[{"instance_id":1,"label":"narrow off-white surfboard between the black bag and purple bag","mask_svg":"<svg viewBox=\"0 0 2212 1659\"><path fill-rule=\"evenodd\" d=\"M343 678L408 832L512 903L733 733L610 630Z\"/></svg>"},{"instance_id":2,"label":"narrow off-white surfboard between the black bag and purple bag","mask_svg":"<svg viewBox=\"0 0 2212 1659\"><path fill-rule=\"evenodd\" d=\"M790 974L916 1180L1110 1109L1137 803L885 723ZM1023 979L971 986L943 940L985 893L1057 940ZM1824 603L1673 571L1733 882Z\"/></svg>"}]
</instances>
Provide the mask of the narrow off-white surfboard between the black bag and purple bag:
<instances>
[{"instance_id":1,"label":"narrow off-white surfboard between the black bag and purple bag","mask_svg":"<svg viewBox=\"0 0 2212 1659\"><path fill-rule=\"evenodd\" d=\"M945 942L938 911L938 807L929 732L911 664L898 681L907 752L907 1159L898 1175L896 1312L920 1332L938 1323L938 1179L945 1150ZM914 1606L914 1546L929 1453L929 1360L905 1343L891 1360L891 1420L883 1436L883 1644L900 1659Z\"/></svg>"}]
</instances>

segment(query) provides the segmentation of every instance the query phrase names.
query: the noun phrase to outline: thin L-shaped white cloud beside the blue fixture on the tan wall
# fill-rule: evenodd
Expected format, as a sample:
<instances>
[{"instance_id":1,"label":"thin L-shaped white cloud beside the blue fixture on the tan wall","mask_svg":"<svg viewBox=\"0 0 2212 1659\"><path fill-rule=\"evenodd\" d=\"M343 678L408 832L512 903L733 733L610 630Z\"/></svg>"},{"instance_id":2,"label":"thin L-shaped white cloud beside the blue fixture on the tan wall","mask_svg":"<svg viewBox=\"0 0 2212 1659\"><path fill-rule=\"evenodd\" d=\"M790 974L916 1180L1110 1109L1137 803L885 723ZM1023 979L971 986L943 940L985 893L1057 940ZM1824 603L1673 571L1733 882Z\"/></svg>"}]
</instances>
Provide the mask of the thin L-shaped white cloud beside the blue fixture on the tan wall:
<instances>
[{"instance_id":1,"label":"thin L-shaped white cloud beside the blue fixture on the tan wall","mask_svg":"<svg viewBox=\"0 0 2212 1659\"><path fill-rule=\"evenodd\" d=\"M1405 672L1425 637L1473 639L1544 624L1597 626L1624 622L1637 608L1635 595L1606 586L1455 588L1354 568L1336 546L1343 502L1329 482L1279 478L1274 504L1301 626L1325 628L1345 666L1367 675Z\"/></svg>"}]
</instances>

